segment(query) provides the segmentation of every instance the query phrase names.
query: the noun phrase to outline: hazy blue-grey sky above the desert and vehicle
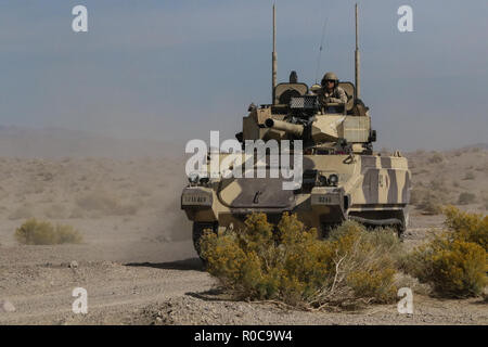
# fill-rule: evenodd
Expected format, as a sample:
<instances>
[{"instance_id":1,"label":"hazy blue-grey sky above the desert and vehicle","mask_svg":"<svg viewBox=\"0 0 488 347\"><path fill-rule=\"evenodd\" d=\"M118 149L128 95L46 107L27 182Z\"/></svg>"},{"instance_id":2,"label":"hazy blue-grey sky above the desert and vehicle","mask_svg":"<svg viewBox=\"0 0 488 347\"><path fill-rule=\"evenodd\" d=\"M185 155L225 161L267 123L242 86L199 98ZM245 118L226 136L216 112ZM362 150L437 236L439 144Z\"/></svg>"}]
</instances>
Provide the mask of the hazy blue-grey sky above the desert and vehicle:
<instances>
[{"instance_id":1,"label":"hazy blue-grey sky above the desert and vehicle","mask_svg":"<svg viewBox=\"0 0 488 347\"><path fill-rule=\"evenodd\" d=\"M278 77L354 79L355 1L278 0ZM72 31L88 8L89 31ZM376 147L488 142L488 3L359 1L362 99ZM397 29L413 9L414 33ZM240 131L270 102L272 1L1 0L0 124L183 143ZM320 79L320 76L319 76Z\"/></svg>"}]
</instances>

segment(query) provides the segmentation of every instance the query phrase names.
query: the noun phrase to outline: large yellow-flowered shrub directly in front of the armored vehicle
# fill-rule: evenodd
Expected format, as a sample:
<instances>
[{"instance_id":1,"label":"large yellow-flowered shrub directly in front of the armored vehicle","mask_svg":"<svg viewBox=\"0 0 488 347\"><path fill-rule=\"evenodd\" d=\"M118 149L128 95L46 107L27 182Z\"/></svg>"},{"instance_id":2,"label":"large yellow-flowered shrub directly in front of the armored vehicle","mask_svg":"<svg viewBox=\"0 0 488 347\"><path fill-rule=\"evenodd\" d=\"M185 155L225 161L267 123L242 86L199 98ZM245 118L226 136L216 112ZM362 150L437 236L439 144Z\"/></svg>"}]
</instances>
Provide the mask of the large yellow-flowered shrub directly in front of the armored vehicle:
<instances>
[{"instance_id":1,"label":"large yellow-flowered shrub directly in front of the armored vehicle","mask_svg":"<svg viewBox=\"0 0 488 347\"><path fill-rule=\"evenodd\" d=\"M391 230L368 232L345 222L319 240L295 215L277 227L265 214L249 215L245 228L204 233L207 271L240 299L278 300L301 308L354 306L395 299L398 240Z\"/></svg>"}]
</instances>

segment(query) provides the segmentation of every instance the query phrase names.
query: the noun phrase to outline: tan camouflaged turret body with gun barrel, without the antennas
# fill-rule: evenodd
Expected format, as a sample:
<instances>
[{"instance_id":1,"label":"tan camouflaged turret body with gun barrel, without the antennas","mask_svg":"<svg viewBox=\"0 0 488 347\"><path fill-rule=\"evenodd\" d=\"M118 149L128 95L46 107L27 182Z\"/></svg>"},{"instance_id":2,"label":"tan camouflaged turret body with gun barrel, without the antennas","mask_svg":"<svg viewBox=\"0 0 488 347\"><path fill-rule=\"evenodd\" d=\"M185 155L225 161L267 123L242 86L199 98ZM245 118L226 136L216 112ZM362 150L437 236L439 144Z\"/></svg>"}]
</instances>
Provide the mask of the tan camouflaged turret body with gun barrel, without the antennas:
<instances>
[{"instance_id":1,"label":"tan camouflaged turret body with gun barrel, without the antennas","mask_svg":"<svg viewBox=\"0 0 488 347\"><path fill-rule=\"evenodd\" d=\"M283 83L282 83L283 85ZM285 92L286 90L282 91ZM349 95L349 94L348 94ZM354 95L354 90L351 94ZM344 107L339 113L325 110ZM371 117L362 102L351 104L319 105L317 95L290 98L288 104L261 105L249 108L243 118L243 132L237 138L244 140L303 140L304 146L348 146L355 153L371 153L375 131L371 130Z\"/></svg>"}]
</instances>

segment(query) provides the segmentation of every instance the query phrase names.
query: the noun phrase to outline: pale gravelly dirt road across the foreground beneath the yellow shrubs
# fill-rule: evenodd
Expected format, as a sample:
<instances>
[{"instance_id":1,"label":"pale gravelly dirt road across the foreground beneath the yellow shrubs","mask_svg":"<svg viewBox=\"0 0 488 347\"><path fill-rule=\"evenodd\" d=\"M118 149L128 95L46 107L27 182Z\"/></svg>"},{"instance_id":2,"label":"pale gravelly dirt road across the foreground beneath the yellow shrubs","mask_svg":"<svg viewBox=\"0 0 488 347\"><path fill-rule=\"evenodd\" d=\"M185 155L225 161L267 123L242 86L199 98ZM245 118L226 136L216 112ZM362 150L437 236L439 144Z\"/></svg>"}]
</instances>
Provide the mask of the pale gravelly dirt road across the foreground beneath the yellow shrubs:
<instances>
[{"instance_id":1,"label":"pale gravelly dirt road across the foreground beneath the yellow shrubs","mask_svg":"<svg viewBox=\"0 0 488 347\"><path fill-rule=\"evenodd\" d=\"M406 242L422 231L413 229ZM215 290L188 241L137 245L147 254L158 248L151 262L119 261L111 247L1 247L0 297L15 311L1 312L0 324L488 324L480 299L415 295L412 316L399 314L395 305L303 312L236 303ZM176 255L182 260L172 260ZM88 292L87 314L72 311L75 287Z\"/></svg>"}]
</instances>

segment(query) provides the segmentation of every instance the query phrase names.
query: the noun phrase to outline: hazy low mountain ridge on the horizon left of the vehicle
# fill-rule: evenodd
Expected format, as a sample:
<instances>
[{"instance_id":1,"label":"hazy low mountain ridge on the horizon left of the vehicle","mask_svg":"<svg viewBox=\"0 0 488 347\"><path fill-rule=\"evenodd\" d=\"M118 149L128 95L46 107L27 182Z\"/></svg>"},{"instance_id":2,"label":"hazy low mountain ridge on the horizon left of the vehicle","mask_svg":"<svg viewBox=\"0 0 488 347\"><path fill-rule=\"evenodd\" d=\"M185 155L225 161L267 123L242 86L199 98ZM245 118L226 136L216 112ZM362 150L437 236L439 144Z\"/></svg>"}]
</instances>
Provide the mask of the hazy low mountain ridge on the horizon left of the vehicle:
<instances>
[{"instance_id":1,"label":"hazy low mountain ridge on the horizon left of the vehicle","mask_svg":"<svg viewBox=\"0 0 488 347\"><path fill-rule=\"evenodd\" d=\"M182 145L127 140L63 128L0 126L0 156L8 157L181 157Z\"/></svg>"}]
</instances>

